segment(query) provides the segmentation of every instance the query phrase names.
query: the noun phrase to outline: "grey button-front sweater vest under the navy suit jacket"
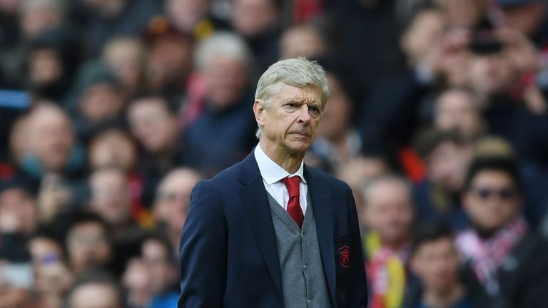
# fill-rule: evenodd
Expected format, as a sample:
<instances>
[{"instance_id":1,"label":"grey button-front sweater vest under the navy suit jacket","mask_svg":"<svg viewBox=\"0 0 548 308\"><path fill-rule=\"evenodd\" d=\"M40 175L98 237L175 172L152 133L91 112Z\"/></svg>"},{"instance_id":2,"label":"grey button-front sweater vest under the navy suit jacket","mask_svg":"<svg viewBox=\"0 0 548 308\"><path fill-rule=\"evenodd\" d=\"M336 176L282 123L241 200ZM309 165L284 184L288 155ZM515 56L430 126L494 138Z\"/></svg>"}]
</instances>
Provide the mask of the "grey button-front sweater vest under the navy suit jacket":
<instances>
[{"instance_id":1,"label":"grey button-front sweater vest under the navy suit jacket","mask_svg":"<svg viewBox=\"0 0 548 308\"><path fill-rule=\"evenodd\" d=\"M331 307L310 198L299 230L288 212L267 195L280 258L284 307Z\"/></svg>"}]
</instances>

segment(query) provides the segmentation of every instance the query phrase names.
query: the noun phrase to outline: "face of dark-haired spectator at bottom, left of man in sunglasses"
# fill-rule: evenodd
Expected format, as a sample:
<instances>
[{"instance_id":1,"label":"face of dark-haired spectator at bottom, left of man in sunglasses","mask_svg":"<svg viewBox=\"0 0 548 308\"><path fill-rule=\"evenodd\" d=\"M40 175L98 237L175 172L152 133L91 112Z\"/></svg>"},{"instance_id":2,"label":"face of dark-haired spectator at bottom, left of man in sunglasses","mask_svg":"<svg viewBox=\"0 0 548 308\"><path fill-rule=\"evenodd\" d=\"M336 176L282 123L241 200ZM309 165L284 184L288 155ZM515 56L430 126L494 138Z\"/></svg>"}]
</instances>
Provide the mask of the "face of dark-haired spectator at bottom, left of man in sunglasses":
<instances>
[{"instance_id":1,"label":"face of dark-haired spectator at bottom, left of man in sunglasses","mask_svg":"<svg viewBox=\"0 0 548 308\"><path fill-rule=\"evenodd\" d=\"M437 292L447 292L458 283L458 267L458 253L448 237L421 244L411 258L411 268L425 289Z\"/></svg>"}]
</instances>

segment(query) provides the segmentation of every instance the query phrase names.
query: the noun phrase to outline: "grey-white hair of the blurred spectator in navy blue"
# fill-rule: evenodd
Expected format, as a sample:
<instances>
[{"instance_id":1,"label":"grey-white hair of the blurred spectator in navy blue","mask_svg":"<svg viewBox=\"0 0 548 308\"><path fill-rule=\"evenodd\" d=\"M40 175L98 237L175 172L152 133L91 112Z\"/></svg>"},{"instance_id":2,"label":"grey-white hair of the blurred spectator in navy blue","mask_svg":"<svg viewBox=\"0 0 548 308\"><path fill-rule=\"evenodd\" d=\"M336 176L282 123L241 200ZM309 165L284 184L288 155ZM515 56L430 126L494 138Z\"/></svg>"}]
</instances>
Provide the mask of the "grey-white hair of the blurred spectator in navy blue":
<instances>
[{"instance_id":1,"label":"grey-white hair of the blurred spectator in navy blue","mask_svg":"<svg viewBox=\"0 0 548 308\"><path fill-rule=\"evenodd\" d=\"M196 49L194 65L203 70L218 56L241 61L248 69L253 63L253 56L247 43L237 34L228 31L215 32L204 39Z\"/></svg>"}]
</instances>

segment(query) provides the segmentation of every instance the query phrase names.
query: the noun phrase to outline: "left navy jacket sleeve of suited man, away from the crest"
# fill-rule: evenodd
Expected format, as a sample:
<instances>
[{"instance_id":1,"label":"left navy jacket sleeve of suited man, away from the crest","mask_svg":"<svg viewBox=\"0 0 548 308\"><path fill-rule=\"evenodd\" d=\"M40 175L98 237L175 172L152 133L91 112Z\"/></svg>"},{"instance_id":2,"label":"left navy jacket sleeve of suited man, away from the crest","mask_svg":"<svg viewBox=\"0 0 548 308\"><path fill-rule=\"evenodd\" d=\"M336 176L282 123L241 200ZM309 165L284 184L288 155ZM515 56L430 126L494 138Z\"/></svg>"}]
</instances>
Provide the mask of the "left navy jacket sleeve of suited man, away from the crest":
<instances>
[{"instance_id":1,"label":"left navy jacket sleeve of suited man, away from the crest","mask_svg":"<svg viewBox=\"0 0 548 308\"><path fill-rule=\"evenodd\" d=\"M192 191L180 247L178 308L222 307L227 227L218 190L207 181L198 183Z\"/></svg>"}]
</instances>

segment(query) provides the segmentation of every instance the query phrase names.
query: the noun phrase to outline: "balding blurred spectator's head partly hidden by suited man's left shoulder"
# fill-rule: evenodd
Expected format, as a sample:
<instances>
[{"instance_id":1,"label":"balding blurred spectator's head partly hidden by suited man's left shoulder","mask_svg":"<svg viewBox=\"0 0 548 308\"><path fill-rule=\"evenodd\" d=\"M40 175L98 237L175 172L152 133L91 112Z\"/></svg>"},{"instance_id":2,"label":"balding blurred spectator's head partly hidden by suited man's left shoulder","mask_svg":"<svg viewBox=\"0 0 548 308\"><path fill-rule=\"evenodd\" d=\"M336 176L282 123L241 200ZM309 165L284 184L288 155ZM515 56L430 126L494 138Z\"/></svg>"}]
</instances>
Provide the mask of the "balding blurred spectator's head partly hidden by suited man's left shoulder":
<instances>
[{"instance_id":1,"label":"balding blurred spectator's head partly hidden by suited man's left shoulder","mask_svg":"<svg viewBox=\"0 0 548 308\"><path fill-rule=\"evenodd\" d=\"M190 168L176 168L158 185L153 215L159 227L165 230L172 247L178 247L181 230L188 213L191 191L202 176Z\"/></svg>"}]
</instances>

